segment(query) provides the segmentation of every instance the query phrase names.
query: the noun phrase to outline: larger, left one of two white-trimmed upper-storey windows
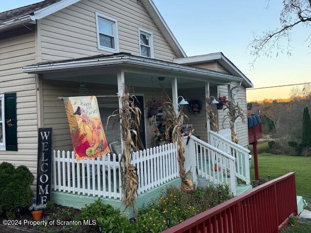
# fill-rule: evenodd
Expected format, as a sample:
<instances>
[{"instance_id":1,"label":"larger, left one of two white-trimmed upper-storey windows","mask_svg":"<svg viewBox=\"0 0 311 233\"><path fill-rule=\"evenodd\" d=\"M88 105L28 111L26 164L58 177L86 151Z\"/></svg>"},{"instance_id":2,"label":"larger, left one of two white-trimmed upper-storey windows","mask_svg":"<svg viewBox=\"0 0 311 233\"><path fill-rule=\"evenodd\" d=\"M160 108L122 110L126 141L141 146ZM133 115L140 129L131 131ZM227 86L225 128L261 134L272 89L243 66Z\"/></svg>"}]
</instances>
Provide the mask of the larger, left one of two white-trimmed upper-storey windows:
<instances>
[{"instance_id":1,"label":"larger, left one of two white-trimmed upper-storey windows","mask_svg":"<svg viewBox=\"0 0 311 233\"><path fill-rule=\"evenodd\" d=\"M96 26L98 49L119 52L117 19L96 13Z\"/></svg>"}]
</instances>

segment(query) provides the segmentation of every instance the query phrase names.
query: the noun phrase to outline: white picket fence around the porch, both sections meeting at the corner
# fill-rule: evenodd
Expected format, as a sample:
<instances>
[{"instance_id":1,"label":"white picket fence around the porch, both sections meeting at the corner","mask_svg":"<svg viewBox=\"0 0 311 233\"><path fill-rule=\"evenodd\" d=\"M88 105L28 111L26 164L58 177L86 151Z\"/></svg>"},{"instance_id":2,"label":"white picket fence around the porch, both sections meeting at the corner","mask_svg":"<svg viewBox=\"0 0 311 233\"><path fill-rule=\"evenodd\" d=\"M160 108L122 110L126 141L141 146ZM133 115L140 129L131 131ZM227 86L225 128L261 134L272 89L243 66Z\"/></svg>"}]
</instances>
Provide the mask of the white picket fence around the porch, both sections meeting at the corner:
<instances>
[{"instance_id":1,"label":"white picket fence around the porch, both sections meeting at the corner","mask_svg":"<svg viewBox=\"0 0 311 233\"><path fill-rule=\"evenodd\" d=\"M138 194L179 176L177 145L170 143L137 151L132 165L138 174ZM121 154L76 161L74 151L53 151L53 189L93 197L122 200Z\"/></svg>"}]
</instances>

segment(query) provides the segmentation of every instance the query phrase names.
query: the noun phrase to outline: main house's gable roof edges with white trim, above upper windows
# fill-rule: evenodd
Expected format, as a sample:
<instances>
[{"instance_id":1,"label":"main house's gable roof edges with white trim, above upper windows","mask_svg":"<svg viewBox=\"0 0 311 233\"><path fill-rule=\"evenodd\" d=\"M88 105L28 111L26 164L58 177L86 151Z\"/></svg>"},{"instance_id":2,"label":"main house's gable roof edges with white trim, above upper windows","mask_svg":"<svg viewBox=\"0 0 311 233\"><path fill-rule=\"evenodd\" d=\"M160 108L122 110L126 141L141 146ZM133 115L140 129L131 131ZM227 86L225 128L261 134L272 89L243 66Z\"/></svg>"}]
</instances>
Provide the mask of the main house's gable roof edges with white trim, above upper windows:
<instances>
[{"instance_id":1,"label":"main house's gable roof edges with white trim, above upper windows","mask_svg":"<svg viewBox=\"0 0 311 233\"><path fill-rule=\"evenodd\" d=\"M32 22L55 13L80 0L44 0L35 4L20 7L10 11L0 13L0 30L15 26L20 23ZM177 57L186 57L185 51L181 48L172 31L166 24L164 18L152 0L139 0L146 8L155 25L159 28Z\"/></svg>"}]
</instances>

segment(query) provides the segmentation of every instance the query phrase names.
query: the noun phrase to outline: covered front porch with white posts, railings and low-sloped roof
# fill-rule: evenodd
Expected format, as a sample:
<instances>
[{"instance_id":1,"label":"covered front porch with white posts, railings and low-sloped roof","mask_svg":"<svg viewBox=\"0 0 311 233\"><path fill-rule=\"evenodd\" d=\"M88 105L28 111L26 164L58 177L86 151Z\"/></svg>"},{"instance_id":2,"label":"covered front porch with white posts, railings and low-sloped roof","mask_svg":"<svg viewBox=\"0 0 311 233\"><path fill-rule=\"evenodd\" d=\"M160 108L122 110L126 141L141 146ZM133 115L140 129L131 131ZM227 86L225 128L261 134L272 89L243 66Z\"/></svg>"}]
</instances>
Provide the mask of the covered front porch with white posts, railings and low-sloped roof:
<instances>
[{"instance_id":1,"label":"covered front porch with white posts, railings and low-sloped roof","mask_svg":"<svg viewBox=\"0 0 311 233\"><path fill-rule=\"evenodd\" d=\"M110 124L105 130L108 143L119 143L119 150L112 149L111 154L103 159L77 162L72 153L68 119L61 99L83 94L97 96L105 127L107 117L121 108L119 98L123 95L125 85L132 88L131 94L138 98L137 104L142 112L140 136L145 150L132 155L132 163L138 174L138 197L148 193L152 197L157 193L152 190L159 191L166 184L180 185L176 145L157 145L155 141L155 128L165 116L160 112L157 116L149 117L145 107L151 98L163 98L163 89L172 99L175 109L178 109L178 102L182 99L180 96L188 101L199 100L202 103L202 109L196 115L188 111L188 106L183 106L189 116L188 123L194 129L194 136L185 138L184 144L185 167L187 171L191 170L193 180L199 182L203 179L207 184L227 183L234 194L236 176L249 183L249 169L245 162L246 158L248 161L247 150L226 139L230 132L212 134L206 112L206 99L217 97L217 85L240 82L241 78L127 53L45 62L24 67L23 70L35 73L38 77L40 127L53 129L55 197L70 194L121 203L120 124L117 122L113 127Z\"/></svg>"}]
</instances>

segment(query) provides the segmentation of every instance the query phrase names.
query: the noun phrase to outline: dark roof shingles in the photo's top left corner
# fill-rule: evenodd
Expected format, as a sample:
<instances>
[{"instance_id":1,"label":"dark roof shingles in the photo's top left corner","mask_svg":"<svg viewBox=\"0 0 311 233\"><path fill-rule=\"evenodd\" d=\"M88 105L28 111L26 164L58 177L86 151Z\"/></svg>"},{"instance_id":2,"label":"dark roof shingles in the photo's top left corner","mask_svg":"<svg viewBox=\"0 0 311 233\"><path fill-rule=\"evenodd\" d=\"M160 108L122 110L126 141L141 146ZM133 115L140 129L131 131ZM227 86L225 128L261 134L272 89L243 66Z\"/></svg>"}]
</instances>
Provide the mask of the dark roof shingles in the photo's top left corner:
<instances>
[{"instance_id":1,"label":"dark roof shingles in the photo's top left corner","mask_svg":"<svg viewBox=\"0 0 311 233\"><path fill-rule=\"evenodd\" d=\"M9 21L11 19L17 19L19 17L32 15L36 10L49 6L60 0L45 0L28 6L19 7L13 10L0 13L0 22Z\"/></svg>"}]
</instances>

